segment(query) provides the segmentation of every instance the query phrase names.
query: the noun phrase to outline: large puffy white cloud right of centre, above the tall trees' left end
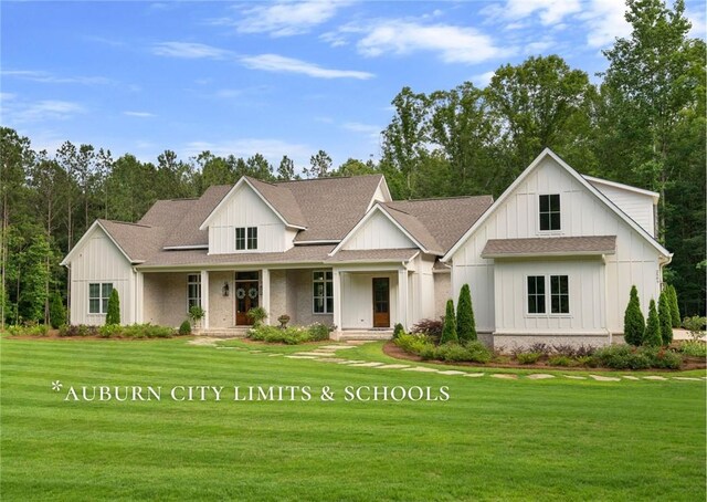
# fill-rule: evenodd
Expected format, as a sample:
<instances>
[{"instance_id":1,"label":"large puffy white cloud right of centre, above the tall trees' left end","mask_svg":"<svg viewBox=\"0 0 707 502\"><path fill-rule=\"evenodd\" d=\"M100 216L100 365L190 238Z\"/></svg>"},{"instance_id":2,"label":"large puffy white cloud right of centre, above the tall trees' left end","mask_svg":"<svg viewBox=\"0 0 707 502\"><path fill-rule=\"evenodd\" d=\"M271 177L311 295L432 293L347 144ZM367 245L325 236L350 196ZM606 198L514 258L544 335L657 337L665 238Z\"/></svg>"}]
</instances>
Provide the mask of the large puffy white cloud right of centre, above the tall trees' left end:
<instances>
[{"instance_id":1,"label":"large puffy white cloud right of centre, above the tall trees' left end","mask_svg":"<svg viewBox=\"0 0 707 502\"><path fill-rule=\"evenodd\" d=\"M449 24L424 25L411 21L381 21L358 42L358 50L367 56L386 53L411 54L435 52L445 63L479 63L508 54L494 45L490 36L473 28Z\"/></svg>"}]
</instances>

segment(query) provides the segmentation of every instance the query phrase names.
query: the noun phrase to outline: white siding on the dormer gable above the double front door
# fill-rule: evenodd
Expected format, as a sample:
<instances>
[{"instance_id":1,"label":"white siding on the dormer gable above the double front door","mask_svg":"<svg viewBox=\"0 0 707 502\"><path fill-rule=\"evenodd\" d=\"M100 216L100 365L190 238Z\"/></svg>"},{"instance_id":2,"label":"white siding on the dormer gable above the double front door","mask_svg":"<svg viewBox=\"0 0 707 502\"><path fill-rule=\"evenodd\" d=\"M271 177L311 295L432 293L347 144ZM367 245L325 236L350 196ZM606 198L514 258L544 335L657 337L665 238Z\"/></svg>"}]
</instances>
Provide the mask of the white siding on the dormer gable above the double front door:
<instances>
[{"instance_id":1,"label":"white siding on the dormer gable above the double front door","mask_svg":"<svg viewBox=\"0 0 707 502\"><path fill-rule=\"evenodd\" d=\"M235 228L257 227L257 249L235 250ZM246 184L219 208L209 224L209 254L281 252L293 244L296 232L283 221Z\"/></svg>"}]
</instances>

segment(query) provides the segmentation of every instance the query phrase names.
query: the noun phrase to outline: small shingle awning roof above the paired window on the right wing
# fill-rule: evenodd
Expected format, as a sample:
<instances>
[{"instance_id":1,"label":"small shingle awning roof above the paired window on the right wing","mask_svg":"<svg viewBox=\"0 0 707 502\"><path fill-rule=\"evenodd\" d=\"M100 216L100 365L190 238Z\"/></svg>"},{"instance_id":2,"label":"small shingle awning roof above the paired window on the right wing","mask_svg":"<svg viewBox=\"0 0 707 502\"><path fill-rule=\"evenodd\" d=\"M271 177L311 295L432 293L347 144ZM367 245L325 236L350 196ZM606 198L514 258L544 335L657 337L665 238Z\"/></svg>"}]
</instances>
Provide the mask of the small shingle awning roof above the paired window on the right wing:
<instances>
[{"instance_id":1,"label":"small shingle awning roof above the paired window on the right wing","mask_svg":"<svg viewBox=\"0 0 707 502\"><path fill-rule=\"evenodd\" d=\"M482 258L614 254L615 252L616 236L540 237L489 239L482 251Z\"/></svg>"}]
</instances>

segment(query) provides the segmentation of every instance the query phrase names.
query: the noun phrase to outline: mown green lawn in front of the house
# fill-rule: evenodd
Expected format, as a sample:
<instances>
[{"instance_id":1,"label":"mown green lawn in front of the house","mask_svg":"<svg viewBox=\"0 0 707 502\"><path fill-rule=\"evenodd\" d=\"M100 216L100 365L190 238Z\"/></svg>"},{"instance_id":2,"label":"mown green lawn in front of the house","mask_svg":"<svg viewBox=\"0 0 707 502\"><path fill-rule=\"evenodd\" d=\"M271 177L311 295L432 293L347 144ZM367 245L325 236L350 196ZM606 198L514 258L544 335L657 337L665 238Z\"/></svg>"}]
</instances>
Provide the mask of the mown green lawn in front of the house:
<instances>
[{"instance_id":1,"label":"mown green lawn in front of the house","mask_svg":"<svg viewBox=\"0 0 707 502\"><path fill-rule=\"evenodd\" d=\"M464 378L184 339L0 343L3 501L705 498L705 381ZM63 400L82 385L309 385L314 398ZM451 398L342 399L366 385Z\"/></svg>"}]
</instances>

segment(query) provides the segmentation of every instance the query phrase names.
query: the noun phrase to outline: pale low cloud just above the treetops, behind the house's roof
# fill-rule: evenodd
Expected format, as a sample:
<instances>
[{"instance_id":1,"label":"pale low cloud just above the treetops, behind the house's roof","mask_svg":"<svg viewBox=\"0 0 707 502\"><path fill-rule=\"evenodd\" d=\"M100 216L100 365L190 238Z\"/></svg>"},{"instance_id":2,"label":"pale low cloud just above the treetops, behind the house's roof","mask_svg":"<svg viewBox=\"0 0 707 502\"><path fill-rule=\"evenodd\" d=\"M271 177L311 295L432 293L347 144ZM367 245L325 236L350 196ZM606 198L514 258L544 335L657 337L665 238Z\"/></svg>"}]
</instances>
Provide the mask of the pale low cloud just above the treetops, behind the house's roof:
<instances>
[{"instance_id":1,"label":"pale low cloud just above the treetops, behind the house's roof","mask_svg":"<svg viewBox=\"0 0 707 502\"><path fill-rule=\"evenodd\" d=\"M283 155L287 155L295 160L296 165L308 165L313 148L307 145L288 143L275 138L240 138L219 143L191 142L186 145L182 155L193 157L203 150L209 150L219 156L234 155L235 157L243 158L261 154L276 167L283 158Z\"/></svg>"}]
</instances>

